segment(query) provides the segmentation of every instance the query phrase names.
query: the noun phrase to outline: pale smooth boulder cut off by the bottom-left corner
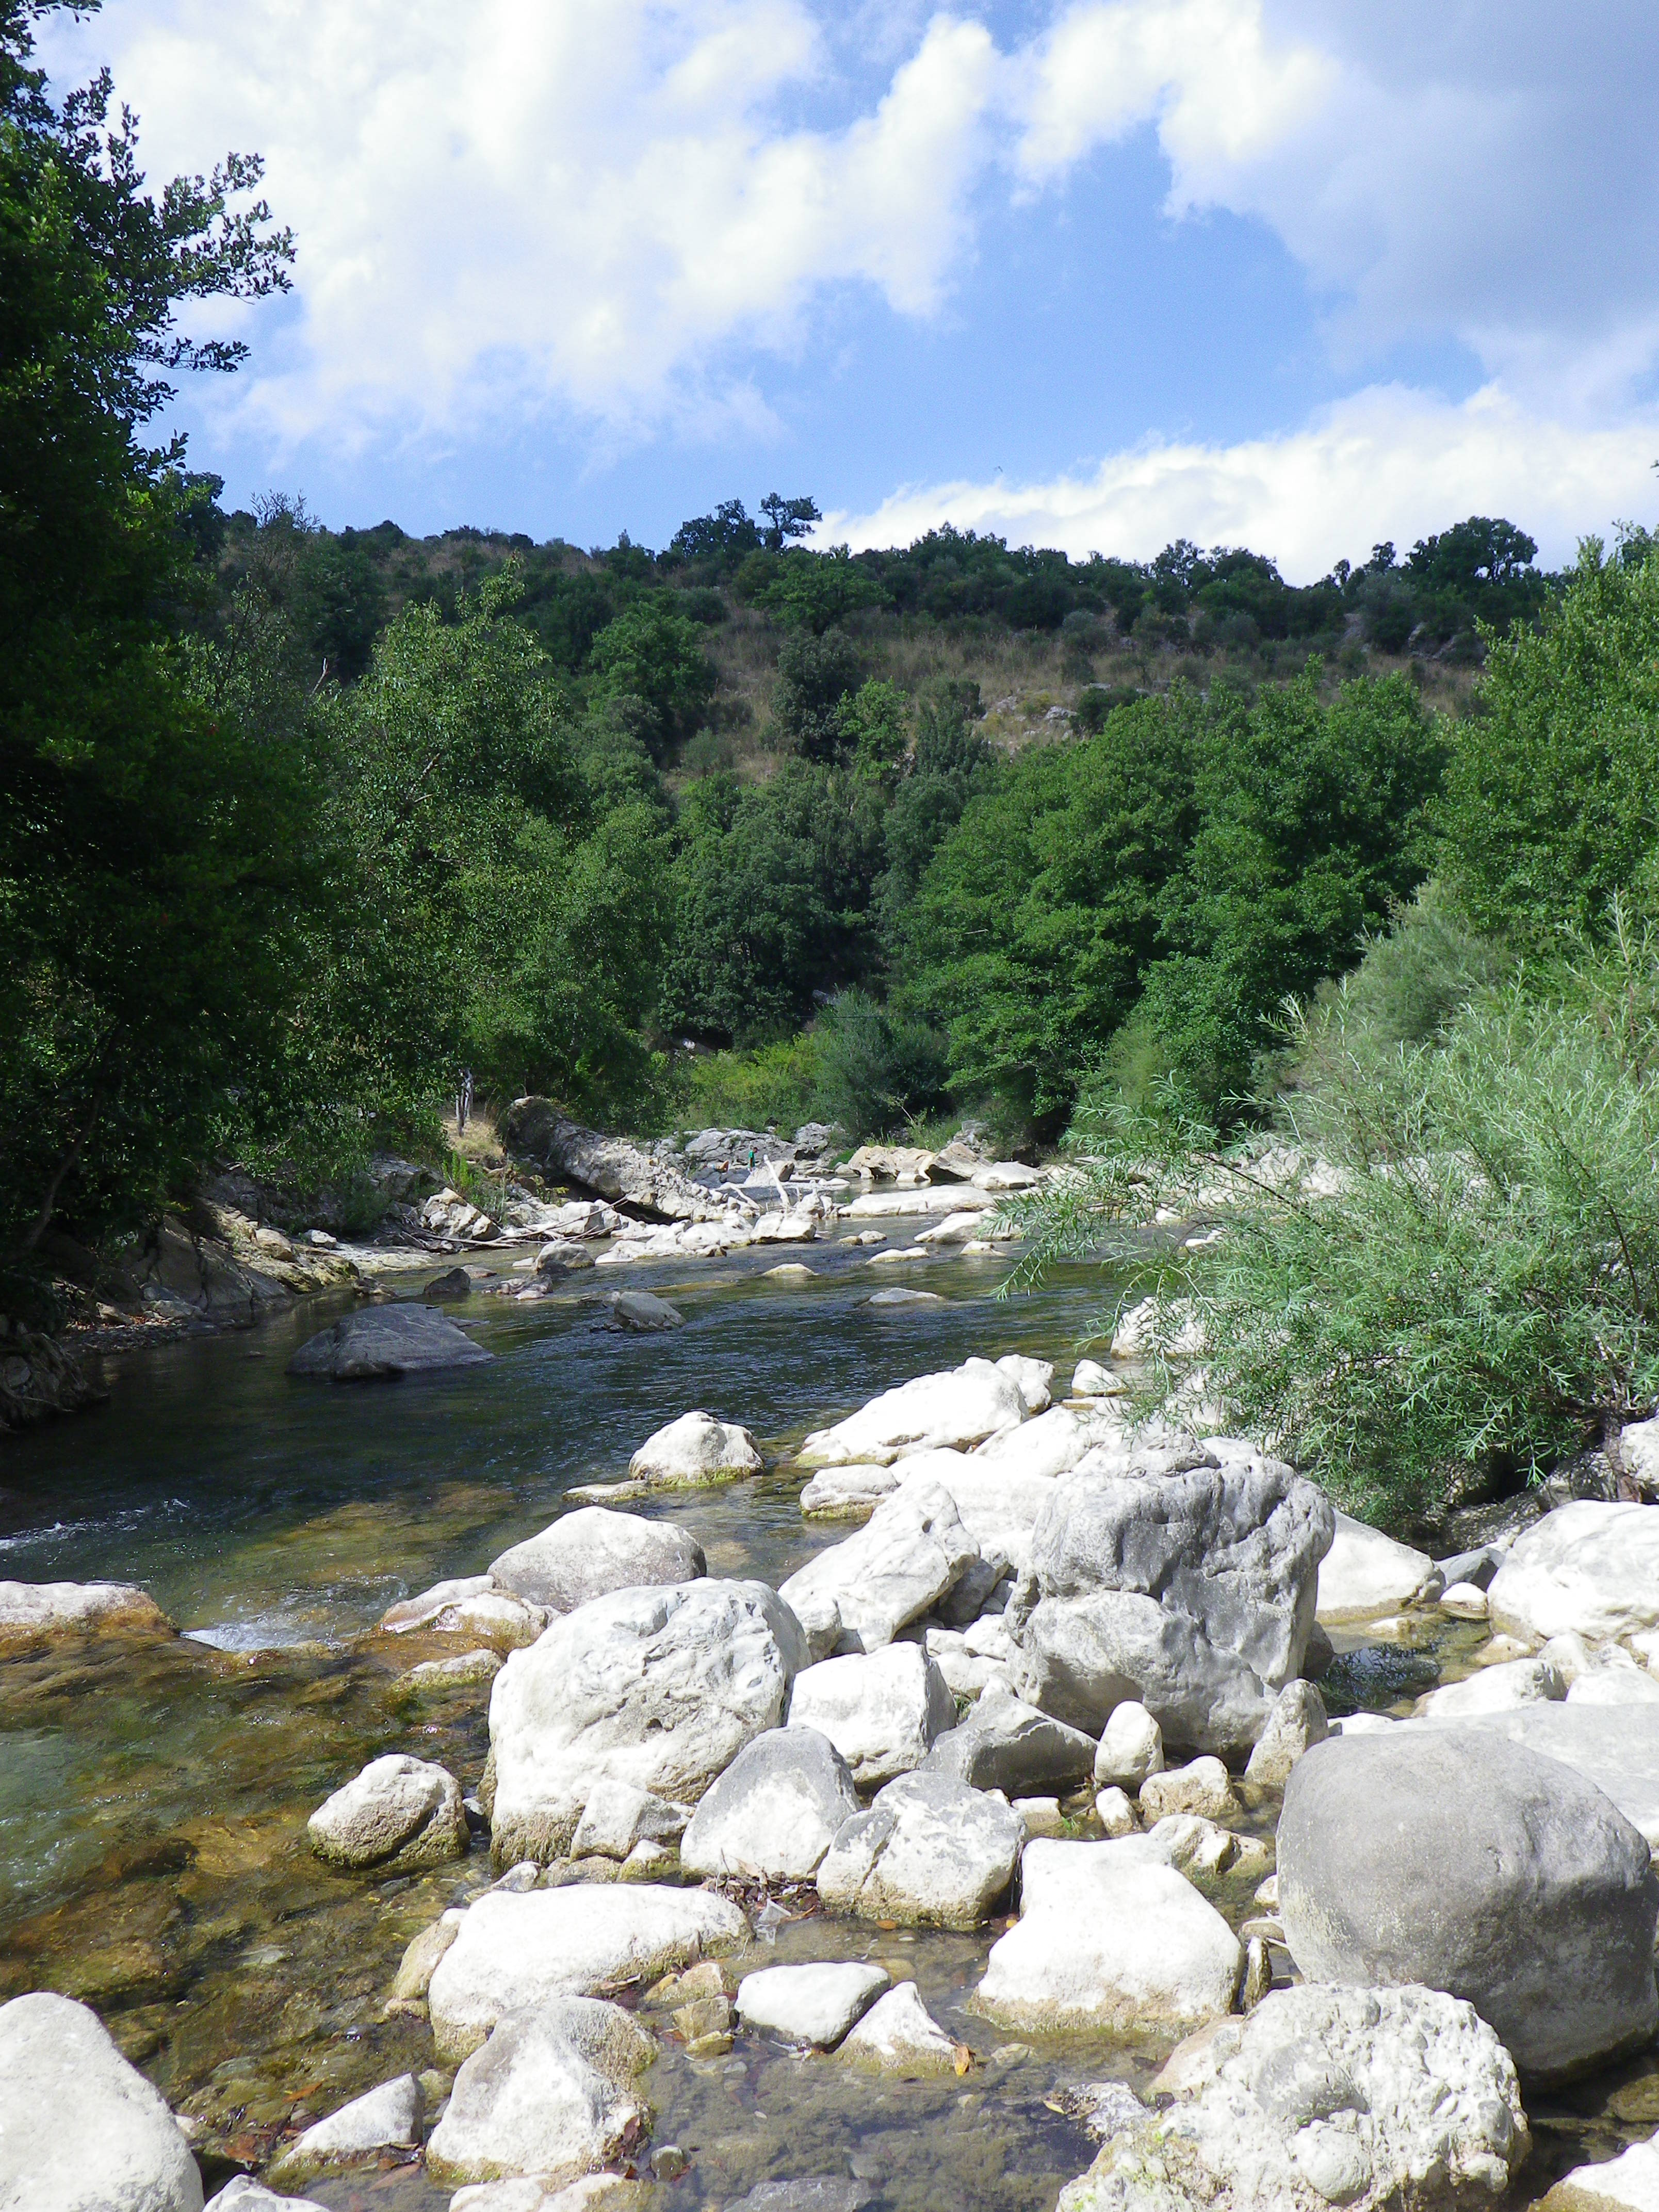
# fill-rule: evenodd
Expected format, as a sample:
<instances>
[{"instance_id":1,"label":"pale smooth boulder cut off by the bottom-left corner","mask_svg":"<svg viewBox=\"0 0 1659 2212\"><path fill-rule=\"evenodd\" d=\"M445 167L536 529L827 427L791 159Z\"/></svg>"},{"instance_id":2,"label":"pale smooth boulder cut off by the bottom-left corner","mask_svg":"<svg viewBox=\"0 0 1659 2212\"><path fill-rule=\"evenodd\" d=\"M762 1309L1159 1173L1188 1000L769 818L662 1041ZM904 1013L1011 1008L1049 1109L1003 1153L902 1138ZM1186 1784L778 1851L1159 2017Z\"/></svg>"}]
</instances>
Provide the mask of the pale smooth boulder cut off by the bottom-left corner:
<instances>
[{"instance_id":1,"label":"pale smooth boulder cut off by the bottom-left corner","mask_svg":"<svg viewBox=\"0 0 1659 2212\"><path fill-rule=\"evenodd\" d=\"M166 2099L84 2004L49 1991L0 2004L0 2084L7 2212L201 2212Z\"/></svg>"}]
</instances>

